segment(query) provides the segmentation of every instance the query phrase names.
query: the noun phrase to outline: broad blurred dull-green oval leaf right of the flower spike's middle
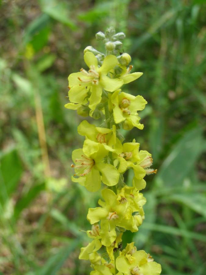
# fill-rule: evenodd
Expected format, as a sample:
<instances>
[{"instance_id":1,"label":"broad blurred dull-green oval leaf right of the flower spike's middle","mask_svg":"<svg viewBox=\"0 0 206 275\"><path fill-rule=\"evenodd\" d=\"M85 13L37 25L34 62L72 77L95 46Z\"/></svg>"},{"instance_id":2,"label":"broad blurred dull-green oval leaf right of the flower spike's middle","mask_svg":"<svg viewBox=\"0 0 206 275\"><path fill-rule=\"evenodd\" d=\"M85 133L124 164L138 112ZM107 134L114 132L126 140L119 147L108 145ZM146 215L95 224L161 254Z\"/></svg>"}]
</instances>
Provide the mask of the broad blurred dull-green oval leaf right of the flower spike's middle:
<instances>
[{"instance_id":1,"label":"broad blurred dull-green oval leaf right of the flower spike's middle","mask_svg":"<svg viewBox=\"0 0 206 275\"><path fill-rule=\"evenodd\" d=\"M186 132L162 163L155 177L156 186L182 185L203 150L202 142L201 127Z\"/></svg>"}]
</instances>

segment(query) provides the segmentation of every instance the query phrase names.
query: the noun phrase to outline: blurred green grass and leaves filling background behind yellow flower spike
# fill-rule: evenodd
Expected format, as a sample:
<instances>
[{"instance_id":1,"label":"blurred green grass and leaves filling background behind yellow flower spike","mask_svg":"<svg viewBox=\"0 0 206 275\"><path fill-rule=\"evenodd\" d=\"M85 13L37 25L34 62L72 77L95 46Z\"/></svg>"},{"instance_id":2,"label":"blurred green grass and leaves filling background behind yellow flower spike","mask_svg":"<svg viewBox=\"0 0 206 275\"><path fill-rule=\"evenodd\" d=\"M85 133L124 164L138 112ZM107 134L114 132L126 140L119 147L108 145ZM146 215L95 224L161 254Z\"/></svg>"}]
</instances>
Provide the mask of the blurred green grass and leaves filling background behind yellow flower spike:
<instances>
[{"instance_id":1,"label":"blurred green grass and leaves filling background behind yellow flower spike","mask_svg":"<svg viewBox=\"0 0 206 275\"><path fill-rule=\"evenodd\" d=\"M144 130L122 133L158 168L146 178L145 222L123 242L150 252L164 275L204 275L205 1L5 0L0 13L0 273L89 274L79 230L100 192L70 181L82 117L64 104L84 48L103 50L95 33L114 26L144 72L129 92L148 101Z\"/></svg>"}]
</instances>

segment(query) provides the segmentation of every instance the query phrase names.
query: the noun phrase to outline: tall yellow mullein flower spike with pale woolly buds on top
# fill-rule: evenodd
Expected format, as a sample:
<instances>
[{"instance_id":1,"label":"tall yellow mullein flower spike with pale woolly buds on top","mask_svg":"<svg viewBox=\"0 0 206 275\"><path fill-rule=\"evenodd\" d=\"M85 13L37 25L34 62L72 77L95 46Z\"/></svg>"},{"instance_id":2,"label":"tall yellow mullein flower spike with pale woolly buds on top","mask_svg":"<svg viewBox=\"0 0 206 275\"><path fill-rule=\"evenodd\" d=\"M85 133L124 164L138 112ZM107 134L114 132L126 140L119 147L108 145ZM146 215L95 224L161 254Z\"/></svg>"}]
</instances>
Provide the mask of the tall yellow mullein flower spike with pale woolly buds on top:
<instances>
[{"instance_id":1,"label":"tall yellow mullein flower spike with pale woolly buds on top","mask_svg":"<svg viewBox=\"0 0 206 275\"><path fill-rule=\"evenodd\" d=\"M122 235L126 230L137 232L144 220L143 205L146 199L145 175L156 173L151 168L151 154L139 150L134 139L123 142L119 129L143 129L137 111L147 101L140 95L124 92L124 84L138 79L142 72L132 72L131 57L121 53L125 34L115 34L114 28L98 32L96 39L105 43L106 53L88 46L84 61L88 68L69 75L69 101L66 108L77 110L81 116L93 119L103 117L97 127L83 120L78 133L85 137L83 147L72 152L74 175L90 192L98 191L102 184L99 207L89 208L87 219L91 230L86 231L91 242L81 248L79 259L89 260L92 275L158 275L161 265L143 250L137 251L134 243L122 248ZM123 86L123 90L122 89ZM128 186L124 173L132 169L134 177Z\"/></svg>"}]
</instances>

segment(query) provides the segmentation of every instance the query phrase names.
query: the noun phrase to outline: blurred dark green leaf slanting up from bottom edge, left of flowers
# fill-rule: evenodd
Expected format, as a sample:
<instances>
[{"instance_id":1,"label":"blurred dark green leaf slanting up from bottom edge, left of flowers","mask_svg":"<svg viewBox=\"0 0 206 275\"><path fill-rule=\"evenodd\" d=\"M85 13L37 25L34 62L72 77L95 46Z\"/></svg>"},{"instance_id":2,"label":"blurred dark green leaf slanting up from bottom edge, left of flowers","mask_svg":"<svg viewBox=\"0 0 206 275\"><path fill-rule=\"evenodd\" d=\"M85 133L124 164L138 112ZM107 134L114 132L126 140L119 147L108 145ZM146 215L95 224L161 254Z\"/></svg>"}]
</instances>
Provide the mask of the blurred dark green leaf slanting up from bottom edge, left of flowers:
<instances>
[{"instance_id":1,"label":"blurred dark green leaf slanting up from bottom edge, left of flowers","mask_svg":"<svg viewBox=\"0 0 206 275\"><path fill-rule=\"evenodd\" d=\"M56 275L57 271L61 269L64 262L69 257L70 253L74 251L76 247L78 247L79 243L80 243L80 239L73 240L69 246L60 249L58 253L56 253L55 255L52 255L44 264L44 266L38 269L35 274Z\"/></svg>"}]
</instances>

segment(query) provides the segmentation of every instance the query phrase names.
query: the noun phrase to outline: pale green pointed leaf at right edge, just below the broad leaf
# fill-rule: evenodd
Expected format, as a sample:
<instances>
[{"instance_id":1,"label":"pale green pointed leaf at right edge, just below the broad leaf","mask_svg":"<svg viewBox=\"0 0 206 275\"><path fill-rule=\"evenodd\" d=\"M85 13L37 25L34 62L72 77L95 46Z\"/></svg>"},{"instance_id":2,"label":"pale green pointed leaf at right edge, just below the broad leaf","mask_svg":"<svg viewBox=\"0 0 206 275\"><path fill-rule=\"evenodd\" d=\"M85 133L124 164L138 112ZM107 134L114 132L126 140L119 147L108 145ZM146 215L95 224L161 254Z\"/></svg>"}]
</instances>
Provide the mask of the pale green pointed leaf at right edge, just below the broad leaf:
<instances>
[{"instance_id":1,"label":"pale green pointed leaf at right edge, just below the broad leaf","mask_svg":"<svg viewBox=\"0 0 206 275\"><path fill-rule=\"evenodd\" d=\"M174 194L167 197L167 201L172 200L185 204L193 211L203 215L206 218L206 196L201 193L185 193L185 194Z\"/></svg>"}]
</instances>

